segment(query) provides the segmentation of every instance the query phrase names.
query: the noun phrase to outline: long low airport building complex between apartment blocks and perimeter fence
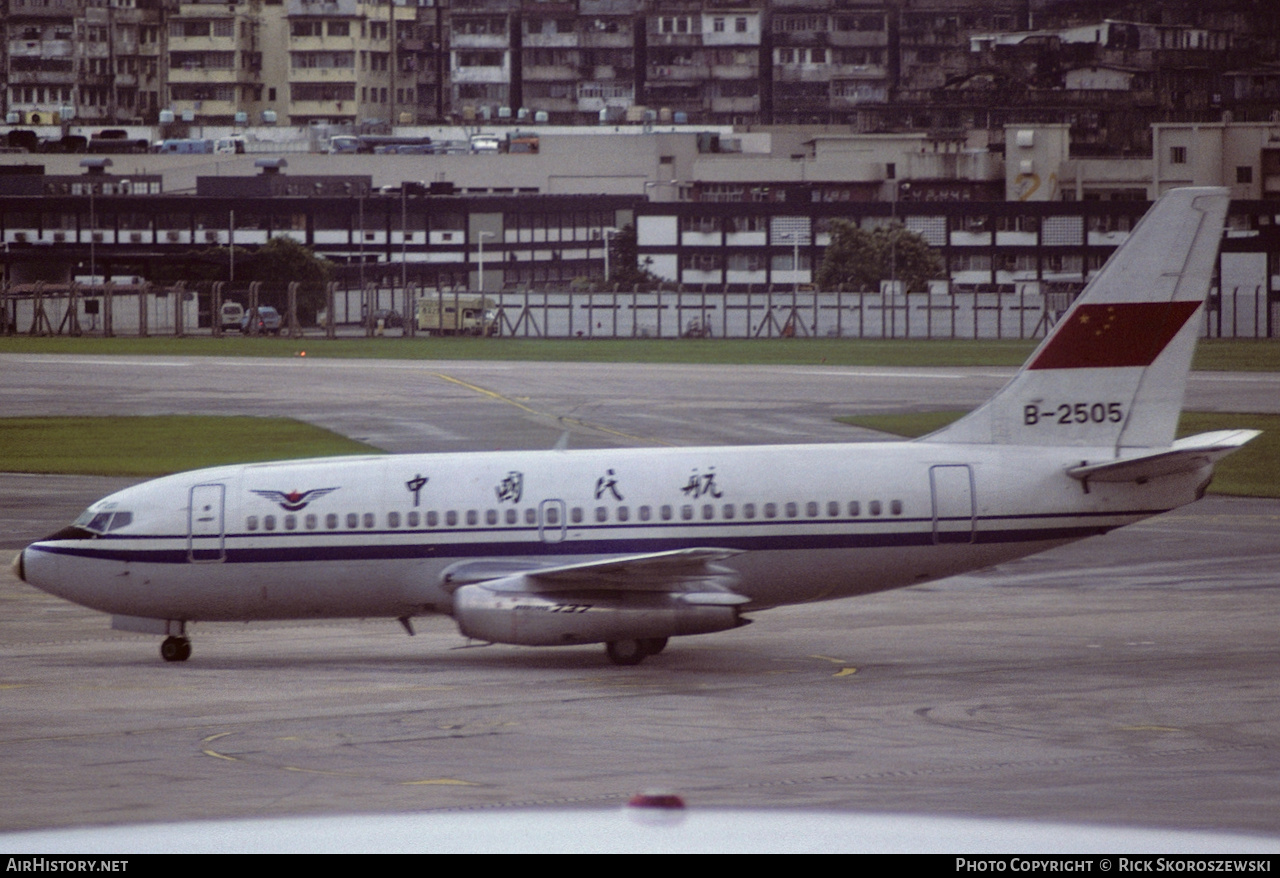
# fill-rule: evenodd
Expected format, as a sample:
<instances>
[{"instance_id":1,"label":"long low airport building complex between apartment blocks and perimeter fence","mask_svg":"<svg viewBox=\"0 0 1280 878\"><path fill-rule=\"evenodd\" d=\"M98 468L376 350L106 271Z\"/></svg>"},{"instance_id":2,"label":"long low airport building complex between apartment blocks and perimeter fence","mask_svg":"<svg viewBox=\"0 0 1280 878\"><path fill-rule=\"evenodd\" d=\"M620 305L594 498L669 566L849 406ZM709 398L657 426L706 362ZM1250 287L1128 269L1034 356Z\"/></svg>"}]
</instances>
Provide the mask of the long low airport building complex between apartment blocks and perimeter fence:
<instances>
[{"instance_id":1,"label":"long low airport building complex between apartment blocks and perimeter fence","mask_svg":"<svg viewBox=\"0 0 1280 878\"><path fill-rule=\"evenodd\" d=\"M945 264L934 294L1069 294L1161 192L1226 186L1221 287L1256 299L1270 326L1280 124L1170 123L1151 137L1135 157L1080 156L1059 124L1012 125L1000 143L672 128L543 133L520 155L14 157L0 260L15 284L145 279L283 235L361 287L570 291L604 285L608 243L634 227L640 266L668 288L797 291L844 219L924 237Z\"/></svg>"}]
</instances>

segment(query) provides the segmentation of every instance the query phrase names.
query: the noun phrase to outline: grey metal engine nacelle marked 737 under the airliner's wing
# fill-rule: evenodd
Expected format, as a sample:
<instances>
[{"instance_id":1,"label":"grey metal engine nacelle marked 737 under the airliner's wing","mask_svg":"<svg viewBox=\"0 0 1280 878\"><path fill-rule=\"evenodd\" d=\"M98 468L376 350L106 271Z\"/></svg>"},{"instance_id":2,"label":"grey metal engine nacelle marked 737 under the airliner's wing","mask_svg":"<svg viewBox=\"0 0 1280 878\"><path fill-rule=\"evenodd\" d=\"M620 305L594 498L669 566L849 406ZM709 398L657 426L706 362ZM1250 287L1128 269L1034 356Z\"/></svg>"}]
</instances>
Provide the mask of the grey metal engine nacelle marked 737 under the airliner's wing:
<instances>
[{"instance_id":1,"label":"grey metal engine nacelle marked 737 under the airliner's wing","mask_svg":"<svg viewBox=\"0 0 1280 878\"><path fill-rule=\"evenodd\" d=\"M742 625L730 603L692 603L698 598L667 591L534 593L465 585L453 593L453 618L468 637L522 646L675 637Z\"/></svg>"}]
</instances>

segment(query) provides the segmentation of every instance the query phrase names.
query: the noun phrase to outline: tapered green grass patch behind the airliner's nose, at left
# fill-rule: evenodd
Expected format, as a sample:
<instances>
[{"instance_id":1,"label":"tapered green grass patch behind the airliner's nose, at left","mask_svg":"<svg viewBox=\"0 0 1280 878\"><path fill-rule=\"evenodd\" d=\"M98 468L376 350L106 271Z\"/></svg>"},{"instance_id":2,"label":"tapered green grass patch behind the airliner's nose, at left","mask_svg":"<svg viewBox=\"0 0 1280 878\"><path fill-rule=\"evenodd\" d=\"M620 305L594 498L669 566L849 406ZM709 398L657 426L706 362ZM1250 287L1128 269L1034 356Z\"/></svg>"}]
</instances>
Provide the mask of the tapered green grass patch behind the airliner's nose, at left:
<instances>
[{"instance_id":1,"label":"tapered green grass patch behind the airliner's nose, at left","mask_svg":"<svg viewBox=\"0 0 1280 878\"><path fill-rule=\"evenodd\" d=\"M0 471L161 476L223 463L378 452L287 417L6 417Z\"/></svg>"}]
</instances>

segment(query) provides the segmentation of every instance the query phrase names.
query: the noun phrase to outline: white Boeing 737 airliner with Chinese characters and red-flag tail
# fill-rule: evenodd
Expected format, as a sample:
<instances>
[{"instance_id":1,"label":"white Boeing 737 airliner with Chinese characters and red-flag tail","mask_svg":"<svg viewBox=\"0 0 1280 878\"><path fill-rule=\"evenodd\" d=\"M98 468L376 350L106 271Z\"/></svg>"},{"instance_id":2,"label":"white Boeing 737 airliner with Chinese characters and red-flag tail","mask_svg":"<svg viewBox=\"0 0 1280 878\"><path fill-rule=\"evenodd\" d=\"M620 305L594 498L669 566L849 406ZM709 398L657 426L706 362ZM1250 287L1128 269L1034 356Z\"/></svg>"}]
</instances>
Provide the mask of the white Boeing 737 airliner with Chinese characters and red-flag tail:
<instances>
[{"instance_id":1,"label":"white Boeing 737 airliner with Chinese characters and red-flag tail","mask_svg":"<svg viewBox=\"0 0 1280 878\"><path fill-rule=\"evenodd\" d=\"M1021 371L915 442L403 454L224 466L91 506L24 581L166 635L447 613L617 664L756 611L896 589L1199 498L1257 435L1174 440L1228 193L1162 197Z\"/></svg>"}]
</instances>

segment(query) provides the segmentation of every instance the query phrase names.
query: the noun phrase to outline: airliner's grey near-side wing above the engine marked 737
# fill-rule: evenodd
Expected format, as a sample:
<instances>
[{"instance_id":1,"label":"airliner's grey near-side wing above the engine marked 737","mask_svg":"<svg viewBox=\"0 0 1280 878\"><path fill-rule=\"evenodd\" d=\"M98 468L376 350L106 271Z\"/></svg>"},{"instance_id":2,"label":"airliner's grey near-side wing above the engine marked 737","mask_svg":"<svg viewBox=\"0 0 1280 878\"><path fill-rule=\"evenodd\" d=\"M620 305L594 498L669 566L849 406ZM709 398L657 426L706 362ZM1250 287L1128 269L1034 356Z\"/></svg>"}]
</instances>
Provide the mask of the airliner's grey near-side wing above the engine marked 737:
<instances>
[{"instance_id":1,"label":"airliner's grey near-side wing above the engine marked 737","mask_svg":"<svg viewBox=\"0 0 1280 878\"><path fill-rule=\"evenodd\" d=\"M609 555L572 564L539 566L520 559L479 559L454 564L444 573L445 587L485 584L497 591L680 591L700 593L708 602L746 603L732 593L737 573L717 564L740 549L689 548ZM722 595L712 600L714 595Z\"/></svg>"}]
</instances>

